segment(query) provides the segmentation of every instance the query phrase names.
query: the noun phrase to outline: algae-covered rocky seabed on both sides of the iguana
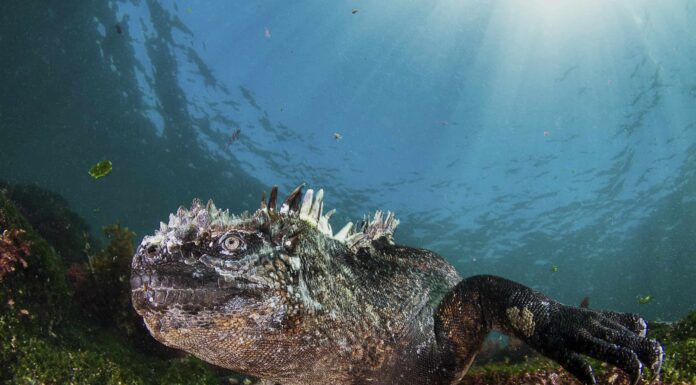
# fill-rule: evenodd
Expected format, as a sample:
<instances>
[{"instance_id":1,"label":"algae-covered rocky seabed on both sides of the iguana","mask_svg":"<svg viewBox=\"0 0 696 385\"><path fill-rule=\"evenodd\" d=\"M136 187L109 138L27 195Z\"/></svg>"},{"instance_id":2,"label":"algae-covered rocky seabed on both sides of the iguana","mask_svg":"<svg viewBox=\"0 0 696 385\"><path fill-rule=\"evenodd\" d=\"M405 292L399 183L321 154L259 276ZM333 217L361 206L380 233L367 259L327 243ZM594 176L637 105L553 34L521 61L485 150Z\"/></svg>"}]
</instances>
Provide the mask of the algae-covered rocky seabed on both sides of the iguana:
<instances>
[{"instance_id":1,"label":"algae-covered rocky seabed on both sides of the iguana","mask_svg":"<svg viewBox=\"0 0 696 385\"><path fill-rule=\"evenodd\" d=\"M127 275L134 234L127 228L107 226L108 244L84 255L78 241L87 242L92 235L85 234L86 227L81 225L85 222L62 198L38 187L4 187L0 189L0 234L5 234L0 239L0 266L8 268L0 276L0 383L252 383L153 343L139 318L133 317L129 302ZM22 194L12 196L11 191ZM41 199L45 197L52 198ZM31 202L28 210L40 211L23 215L28 204L17 204L12 198ZM32 219L77 225L59 231L50 227L50 239L71 240L67 246L54 245ZM75 255L79 250L83 254ZM650 323L649 335L664 344L666 354L661 379L654 384L696 385L696 311L676 323ZM494 358L474 365L461 384L579 384L558 364L524 346L512 346L516 352L490 345L489 350L498 349L487 352ZM523 356L531 358L520 360ZM511 364L506 357L517 360ZM595 367L598 384L628 384L623 372L606 365Z\"/></svg>"}]
</instances>

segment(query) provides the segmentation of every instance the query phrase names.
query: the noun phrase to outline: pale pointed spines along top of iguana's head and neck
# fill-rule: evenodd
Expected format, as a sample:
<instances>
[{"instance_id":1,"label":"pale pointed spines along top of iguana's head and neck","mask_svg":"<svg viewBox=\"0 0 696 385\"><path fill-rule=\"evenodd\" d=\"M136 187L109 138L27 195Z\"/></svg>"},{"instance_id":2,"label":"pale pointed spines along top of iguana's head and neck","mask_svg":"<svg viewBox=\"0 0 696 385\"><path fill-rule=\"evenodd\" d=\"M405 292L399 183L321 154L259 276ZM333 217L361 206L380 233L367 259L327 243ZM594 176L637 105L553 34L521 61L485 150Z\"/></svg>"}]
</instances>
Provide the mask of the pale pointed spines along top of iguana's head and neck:
<instances>
[{"instance_id":1,"label":"pale pointed spines along top of iguana's head and neck","mask_svg":"<svg viewBox=\"0 0 696 385\"><path fill-rule=\"evenodd\" d=\"M302 194L302 187L297 186L285 198L280 208L277 208L276 201L278 198L278 187L273 186L271 194L266 201L265 192L261 195L261 207L257 214L267 214L272 220L283 220L284 218L295 217L314 226L322 234L331 237L337 241L343 242L348 247L357 249L363 246L368 246L373 240L386 237L391 242L392 235L399 220L394 217L392 212L387 212L386 215L382 211L377 211L372 220L365 217L364 225L360 229L353 226L353 222L346 223L341 230L333 233L329 218L336 212L335 209L323 213L324 211L324 190L320 189L315 193L312 189ZM275 214L275 215L274 215ZM186 209L183 206L179 207L176 214L169 215L169 223L160 223L160 233L175 230L176 228L188 227L193 224L198 228L208 226L233 225L243 220L248 220L249 215L242 216L231 215L228 210L219 210L215 207L212 200L208 201L205 206L199 199L194 199L191 203L191 208Z\"/></svg>"}]
</instances>

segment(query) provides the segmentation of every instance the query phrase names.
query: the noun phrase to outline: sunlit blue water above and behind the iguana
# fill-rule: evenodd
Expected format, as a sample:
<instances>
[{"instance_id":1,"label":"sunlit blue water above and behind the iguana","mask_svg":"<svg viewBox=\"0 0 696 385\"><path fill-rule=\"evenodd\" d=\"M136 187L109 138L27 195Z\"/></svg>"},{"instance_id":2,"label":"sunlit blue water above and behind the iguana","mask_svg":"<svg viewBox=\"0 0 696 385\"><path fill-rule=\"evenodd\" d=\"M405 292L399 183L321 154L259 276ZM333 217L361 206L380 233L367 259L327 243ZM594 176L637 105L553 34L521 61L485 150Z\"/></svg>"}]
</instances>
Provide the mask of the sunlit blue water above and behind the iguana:
<instances>
[{"instance_id":1,"label":"sunlit blue water above and behind the iguana","mask_svg":"<svg viewBox=\"0 0 696 385\"><path fill-rule=\"evenodd\" d=\"M465 276L696 308L692 1L81 3L2 6L0 179L93 229L305 182Z\"/></svg>"}]
</instances>

